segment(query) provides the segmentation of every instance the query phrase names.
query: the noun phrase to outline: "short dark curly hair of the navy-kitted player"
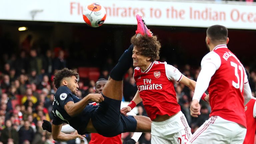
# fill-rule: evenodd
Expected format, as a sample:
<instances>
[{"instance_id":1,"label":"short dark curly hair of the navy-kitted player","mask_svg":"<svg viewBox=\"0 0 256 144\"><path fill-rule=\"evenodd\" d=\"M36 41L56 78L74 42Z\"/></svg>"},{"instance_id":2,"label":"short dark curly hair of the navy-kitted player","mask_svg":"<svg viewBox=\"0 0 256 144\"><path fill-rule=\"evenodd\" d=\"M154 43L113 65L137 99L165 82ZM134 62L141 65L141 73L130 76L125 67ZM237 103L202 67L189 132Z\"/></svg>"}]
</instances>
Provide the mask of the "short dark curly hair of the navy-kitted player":
<instances>
[{"instance_id":1,"label":"short dark curly hair of the navy-kitted player","mask_svg":"<svg viewBox=\"0 0 256 144\"><path fill-rule=\"evenodd\" d=\"M60 87L60 83L63 78L72 77L72 76L75 76L76 78L79 77L78 73L74 70L69 70L68 68L58 70L54 74L54 78L53 78L55 87L56 88Z\"/></svg>"}]
</instances>

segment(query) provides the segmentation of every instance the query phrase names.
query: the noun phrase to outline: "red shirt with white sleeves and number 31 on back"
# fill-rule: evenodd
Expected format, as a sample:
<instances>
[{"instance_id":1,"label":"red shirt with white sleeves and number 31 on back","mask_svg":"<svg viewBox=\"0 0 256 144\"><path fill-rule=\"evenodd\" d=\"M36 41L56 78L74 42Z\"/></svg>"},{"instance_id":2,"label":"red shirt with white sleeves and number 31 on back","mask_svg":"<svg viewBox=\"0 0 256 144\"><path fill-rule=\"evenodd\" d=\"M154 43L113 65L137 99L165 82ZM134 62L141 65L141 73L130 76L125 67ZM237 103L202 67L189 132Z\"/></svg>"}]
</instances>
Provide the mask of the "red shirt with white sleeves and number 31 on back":
<instances>
[{"instance_id":1,"label":"red shirt with white sleeves and number 31 on back","mask_svg":"<svg viewBox=\"0 0 256 144\"><path fill-rule=\"evenodd\" d=\"M243 88L248 80L243 65L226 45L216 46L205 55L201 65L206 62L217 68L208 87L210 116L217 115L246 127Z\"/></svg>"}]
</instances>

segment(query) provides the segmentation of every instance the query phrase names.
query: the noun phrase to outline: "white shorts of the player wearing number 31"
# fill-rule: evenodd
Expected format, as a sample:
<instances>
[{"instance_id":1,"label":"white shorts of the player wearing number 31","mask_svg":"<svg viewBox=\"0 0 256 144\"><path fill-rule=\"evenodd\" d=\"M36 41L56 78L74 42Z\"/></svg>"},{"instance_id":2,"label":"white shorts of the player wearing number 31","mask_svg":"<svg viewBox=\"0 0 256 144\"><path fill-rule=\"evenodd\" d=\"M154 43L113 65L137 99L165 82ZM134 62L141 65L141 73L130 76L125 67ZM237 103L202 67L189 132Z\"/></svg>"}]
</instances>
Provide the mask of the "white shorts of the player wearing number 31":
<instances>
[{"instance_id":1,"label":"white shorts of the player wearing number 31","mask_svg":"<svg viewBox=\"0 0 256 144\"><path fill-rule=\"evenodd\" d=\"M246 128L219 116L211 116L187 144L242 144Z\"/></svg>"}]
</instances>

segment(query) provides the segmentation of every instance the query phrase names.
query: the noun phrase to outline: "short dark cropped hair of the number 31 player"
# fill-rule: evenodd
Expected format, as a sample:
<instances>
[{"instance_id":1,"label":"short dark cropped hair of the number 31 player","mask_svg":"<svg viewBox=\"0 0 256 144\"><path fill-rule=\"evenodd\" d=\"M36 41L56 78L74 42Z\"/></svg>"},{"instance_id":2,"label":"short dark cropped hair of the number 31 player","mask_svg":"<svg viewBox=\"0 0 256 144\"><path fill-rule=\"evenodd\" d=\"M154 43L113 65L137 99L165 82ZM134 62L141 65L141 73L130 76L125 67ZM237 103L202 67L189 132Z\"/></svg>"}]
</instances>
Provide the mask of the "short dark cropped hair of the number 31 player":
<instances>
[{"instance_id":1,"label":"short dark cropped hair of the number 31 player","mask_svg":"<svg viewBox=\"0 0 256 144\"><path fill-rule=\"evenodd\" d=\"M213 25L207 29L206 34L212 43L226 42L228 37L228 29L222 25Z\"/></svg>"}]
</instances>

